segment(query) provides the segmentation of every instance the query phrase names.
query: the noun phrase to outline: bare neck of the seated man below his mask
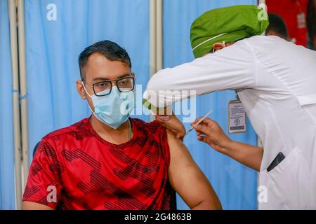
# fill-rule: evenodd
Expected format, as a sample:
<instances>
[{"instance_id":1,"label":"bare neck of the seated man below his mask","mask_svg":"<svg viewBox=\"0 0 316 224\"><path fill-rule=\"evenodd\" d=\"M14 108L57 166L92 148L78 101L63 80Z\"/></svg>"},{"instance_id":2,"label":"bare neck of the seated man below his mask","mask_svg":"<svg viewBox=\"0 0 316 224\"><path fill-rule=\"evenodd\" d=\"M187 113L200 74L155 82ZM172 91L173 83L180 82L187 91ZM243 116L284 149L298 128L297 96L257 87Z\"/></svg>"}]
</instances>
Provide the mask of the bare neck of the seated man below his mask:
<instances>
[{"instance_id":1,"label":"bare neck of the seated man below his mask","mask_svg":"<svg viewBox=\"0 0 316 224\"><path fill-rule=\"evenodd\" d=\"M91 116L91 125L93 130L105 141L109 141L112 144L123 144L129 141L129 121L126 120L117 129L102 123L96 116Z\"/></svg>"}]
</instances>

